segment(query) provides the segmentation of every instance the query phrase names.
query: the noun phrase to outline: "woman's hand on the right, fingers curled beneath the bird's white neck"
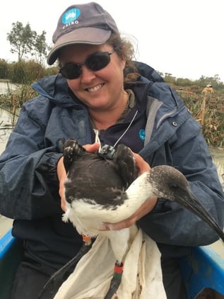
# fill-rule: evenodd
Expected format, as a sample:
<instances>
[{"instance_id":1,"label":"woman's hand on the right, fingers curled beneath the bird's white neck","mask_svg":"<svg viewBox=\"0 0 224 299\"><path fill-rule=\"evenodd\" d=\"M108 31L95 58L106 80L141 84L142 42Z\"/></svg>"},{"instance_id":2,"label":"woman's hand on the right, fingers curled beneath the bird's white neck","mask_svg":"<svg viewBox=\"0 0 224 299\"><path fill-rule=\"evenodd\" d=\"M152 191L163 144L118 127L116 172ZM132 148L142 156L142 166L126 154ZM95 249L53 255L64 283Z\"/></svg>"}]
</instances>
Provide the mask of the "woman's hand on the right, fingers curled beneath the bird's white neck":
<instances>
[{"instance_id":1,"label":"woman's hand on the right, fingers curled beneath the bird's white neck","mask_svg":"<svg viewBox=\"0 0 224 299\"><path fill-rule=\"evenodd\" d=\"M143 174L143 172L146 172L151 169L151 167L146 163L146 161L136 153L133 153L134 159L136 160L136 167L138 168L138 175ZM157 203L158 198L149 198L147 201L145 201L136 212L131 215L131 217L126 218L125 220L116 222L116 223L110 223L110 222L104 222L104 229L103 230L122 230L123 228L130 227L131 225L134 225L134 223L141 219L143 216L151 212L153 208L155 207L155 204Z\"/></svg>"}]
</instances>

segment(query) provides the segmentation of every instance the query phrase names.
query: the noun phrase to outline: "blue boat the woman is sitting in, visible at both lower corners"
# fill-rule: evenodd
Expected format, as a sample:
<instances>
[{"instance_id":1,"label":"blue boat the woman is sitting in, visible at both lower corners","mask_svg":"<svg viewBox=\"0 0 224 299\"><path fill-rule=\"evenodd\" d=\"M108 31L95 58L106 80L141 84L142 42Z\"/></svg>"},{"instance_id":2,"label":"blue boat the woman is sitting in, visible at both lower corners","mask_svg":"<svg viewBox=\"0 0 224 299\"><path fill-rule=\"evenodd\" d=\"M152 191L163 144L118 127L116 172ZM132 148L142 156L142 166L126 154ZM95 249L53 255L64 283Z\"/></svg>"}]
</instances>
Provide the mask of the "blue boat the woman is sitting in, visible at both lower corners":
<instances>
[{"instance_id":1,"label":"blue boat the woman is sitting in, visible at both lower corners","mask_svg":"<svg viewBox=\"0 0 224 299\"><path fill-rule=\"evenodd\" d=\"M22 244L8 230L0 239L0 299L10 299L13 277L22 254ZM209 298L224 298L224 259L214 249L194 247L189 256L179 259L179 264L187 299L197 298L201 292L210 292Z\"/></svg>"}]
</instances>

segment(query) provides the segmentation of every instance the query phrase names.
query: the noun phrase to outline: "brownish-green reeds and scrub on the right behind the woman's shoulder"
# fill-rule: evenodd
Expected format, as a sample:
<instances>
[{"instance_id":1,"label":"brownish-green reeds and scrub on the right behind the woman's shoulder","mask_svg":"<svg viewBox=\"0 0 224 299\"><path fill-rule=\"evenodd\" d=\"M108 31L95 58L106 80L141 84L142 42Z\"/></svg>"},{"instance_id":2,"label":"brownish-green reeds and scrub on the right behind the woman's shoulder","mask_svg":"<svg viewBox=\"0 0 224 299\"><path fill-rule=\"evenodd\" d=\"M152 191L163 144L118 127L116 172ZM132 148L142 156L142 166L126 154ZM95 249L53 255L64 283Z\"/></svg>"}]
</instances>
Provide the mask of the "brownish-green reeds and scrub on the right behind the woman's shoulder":
<instances>
[{"instance_id":1,"label":"brownish-green reeds and scrub on the right behind the woman's shoulder","mask_svg":"<svg viewBox=\"0 0 224 299\"><path fill-rule=\"evenodd\" d=\"M224 147L224 85L218 75L201 76L199 80L191 81L165 74L164 79L182 97L201 124L201 132L209 147ZM214 94L201 94L208 83L212 84Z\"/></svg>"}]
</instances>

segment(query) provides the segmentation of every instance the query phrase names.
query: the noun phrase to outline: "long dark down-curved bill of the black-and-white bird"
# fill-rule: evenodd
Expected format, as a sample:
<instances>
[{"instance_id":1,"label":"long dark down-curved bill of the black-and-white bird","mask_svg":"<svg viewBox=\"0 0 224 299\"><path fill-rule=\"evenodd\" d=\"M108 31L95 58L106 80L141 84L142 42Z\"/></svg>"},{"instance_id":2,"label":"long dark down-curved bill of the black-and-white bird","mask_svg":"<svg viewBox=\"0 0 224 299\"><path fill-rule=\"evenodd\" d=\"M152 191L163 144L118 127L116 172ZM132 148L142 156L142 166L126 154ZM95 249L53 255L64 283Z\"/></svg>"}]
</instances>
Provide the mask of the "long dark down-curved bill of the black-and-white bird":
<instances>
[{"instance_id":1,"label":"long dark down-curved bill of the black-and-white bird","mask_svg":"<svg viewBox=\"0 0 224 299\"><path fill-rule=\"evenodd\" d=\"M213 230L217 232L220 239L224 242L224 232L216 222L216 220L205 210L204 206L199 203L199 201L196 199L194 194L190 191L187 194L187 196L183 196L182 198L178 198L177 203L179 205L183 205L185 208L193 212L195 215L197 215L199 218L204 220L208 225L210 225Z\"/></svg>"}]
</instances>

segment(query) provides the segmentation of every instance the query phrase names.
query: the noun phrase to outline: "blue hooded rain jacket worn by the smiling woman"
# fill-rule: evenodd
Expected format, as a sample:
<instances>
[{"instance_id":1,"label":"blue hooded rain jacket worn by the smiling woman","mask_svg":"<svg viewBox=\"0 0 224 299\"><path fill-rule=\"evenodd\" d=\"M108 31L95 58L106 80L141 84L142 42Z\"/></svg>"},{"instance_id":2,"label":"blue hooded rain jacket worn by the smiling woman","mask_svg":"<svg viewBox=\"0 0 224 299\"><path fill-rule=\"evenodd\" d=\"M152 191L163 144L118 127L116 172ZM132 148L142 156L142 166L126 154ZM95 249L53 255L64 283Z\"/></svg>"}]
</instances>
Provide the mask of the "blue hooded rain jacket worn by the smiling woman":
<instances>
[{"instance_id":1,"label":"blue hooded rain jacket worn by the smiling woman","mask_svg":"<svg viewBox=\"0 0 224 299\"><path fill-rule=\"evenodd\" d=\"M139 77L137 84L127 86L136 95L133 111L138 114L120 143L132 149L139 143L139 154L151 167L168 164L182 171L195 196L223 227L223 191L199 123L153 69L145 64L139 67L150 79ZM92 143L93 130L86 107L71 94L61 75L40 79L33 89L39 95L23 105L1 154L0 213L15 219L13 235L25 240L28 252L57 269L82 244L71 224L61 221L56 172L59 142L75 137L82 145ZM124 124L112 126L105 130L103 142L114 144L122 132ZM165 256L181 256L191 246L218 239L205 222L163 198L138 225L158 242Z\"/></svg>"}]
</instances>

